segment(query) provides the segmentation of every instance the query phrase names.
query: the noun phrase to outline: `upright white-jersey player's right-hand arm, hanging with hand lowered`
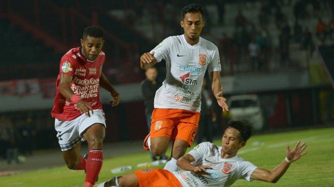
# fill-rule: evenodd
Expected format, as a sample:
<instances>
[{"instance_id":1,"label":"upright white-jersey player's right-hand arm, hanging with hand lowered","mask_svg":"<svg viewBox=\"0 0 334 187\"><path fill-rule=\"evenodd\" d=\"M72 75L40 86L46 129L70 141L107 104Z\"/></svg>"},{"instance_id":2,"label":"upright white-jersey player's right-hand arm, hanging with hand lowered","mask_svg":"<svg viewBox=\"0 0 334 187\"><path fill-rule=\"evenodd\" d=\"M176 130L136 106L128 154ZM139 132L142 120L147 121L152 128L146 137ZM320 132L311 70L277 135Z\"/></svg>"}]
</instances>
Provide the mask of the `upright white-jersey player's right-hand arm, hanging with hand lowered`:
<instances>
[{"instance_id":1,"label":"upright white-jersey player's right-hand arm, hanging with hand lowered","mask_svg":"<svg viewBox=\"0 0 334 187\"><path fill-rule=\"evenodd\" d=\"M215 98L217 99L218 105L222 108L222 111L229 111L229 106L227 106L226 99L222 97L219 72L211 72L210 78L212 81L211 84L212 92Z\"/></svg>"}]
</instances>

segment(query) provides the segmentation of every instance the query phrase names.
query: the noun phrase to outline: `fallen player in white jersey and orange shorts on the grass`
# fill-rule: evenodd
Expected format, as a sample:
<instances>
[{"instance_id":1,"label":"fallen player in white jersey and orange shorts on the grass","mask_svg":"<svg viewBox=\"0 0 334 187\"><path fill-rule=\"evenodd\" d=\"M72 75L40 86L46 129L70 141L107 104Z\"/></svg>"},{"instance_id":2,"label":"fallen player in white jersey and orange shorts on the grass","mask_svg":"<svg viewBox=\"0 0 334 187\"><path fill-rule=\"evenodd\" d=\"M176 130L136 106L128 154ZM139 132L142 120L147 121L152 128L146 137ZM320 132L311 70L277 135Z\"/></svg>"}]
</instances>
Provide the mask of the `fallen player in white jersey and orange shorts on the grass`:
<instances>
[{"instance_id":1,"label":"fallen player in white jersey and orange shorts on the grass","mask_svg":"<svg viewBox=\"0 0 334 187\"><path fill-rule=\"evenodd\" d=\"M277 182L290 167L307 152L306 144L297 142L286 157L273 170L256 167L253 163L237 156L238 150L246 145L253 127L243 121L230 121L221 137L221 147L210 142L198 144L193 150L177 160L182 171L170 172L163 169L138 170L124 176L114 177L98 187L109 186L169 186L206 187L231 186L238 179Z\"/></svg>"}]
</instances>

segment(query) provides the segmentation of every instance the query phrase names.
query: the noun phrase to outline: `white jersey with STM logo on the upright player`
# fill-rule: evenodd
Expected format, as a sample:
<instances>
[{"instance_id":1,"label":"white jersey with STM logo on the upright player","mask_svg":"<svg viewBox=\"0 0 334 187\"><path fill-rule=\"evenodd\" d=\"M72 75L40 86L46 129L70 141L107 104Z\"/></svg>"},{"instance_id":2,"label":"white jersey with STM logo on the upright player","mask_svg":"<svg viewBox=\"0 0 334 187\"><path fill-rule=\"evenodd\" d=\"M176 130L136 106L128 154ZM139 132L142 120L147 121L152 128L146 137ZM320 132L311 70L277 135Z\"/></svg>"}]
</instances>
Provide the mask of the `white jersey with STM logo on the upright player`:
<instances>
[{"instance_id":1,"label":"white jersey with STM logo on the upright player","mask_svg":"<svg viewBox=\"0 0 334 187\"><path fill-rule=\"evenodd\" d=\"M218 48L200 37L190 45L184 35L170 36L150 53L160 62L166 61L166 79L154 97L154 108L174 108L201 111L203 78L208 69L220 72Z\"/></svg>"}]
</instances>

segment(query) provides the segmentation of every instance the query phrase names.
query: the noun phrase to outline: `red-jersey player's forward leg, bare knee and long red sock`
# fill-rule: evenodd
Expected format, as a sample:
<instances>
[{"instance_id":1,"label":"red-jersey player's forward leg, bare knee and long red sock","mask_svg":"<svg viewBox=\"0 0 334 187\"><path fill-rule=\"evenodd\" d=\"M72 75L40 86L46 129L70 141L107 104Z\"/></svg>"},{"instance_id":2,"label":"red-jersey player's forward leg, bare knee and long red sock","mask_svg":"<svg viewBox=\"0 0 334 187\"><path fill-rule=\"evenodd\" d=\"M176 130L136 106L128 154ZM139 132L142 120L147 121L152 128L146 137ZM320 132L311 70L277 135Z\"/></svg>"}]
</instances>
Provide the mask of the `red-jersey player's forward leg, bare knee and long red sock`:
<instances>
[{"instance_id":1,"label":"red-jersey player's forward leg, bare knee and long red sock","mask_svg":"<svg viewBox=\"0 0 334 187\"><path fill-rule=\"evenodd\" d=\"M100 173L103 161L102 145L105 136L105 127L103 124L93 124L84 133L88 143L88 157L86 160L86 179L85 187L91 187L95 184Z\"/></svg>"}]
</instances>

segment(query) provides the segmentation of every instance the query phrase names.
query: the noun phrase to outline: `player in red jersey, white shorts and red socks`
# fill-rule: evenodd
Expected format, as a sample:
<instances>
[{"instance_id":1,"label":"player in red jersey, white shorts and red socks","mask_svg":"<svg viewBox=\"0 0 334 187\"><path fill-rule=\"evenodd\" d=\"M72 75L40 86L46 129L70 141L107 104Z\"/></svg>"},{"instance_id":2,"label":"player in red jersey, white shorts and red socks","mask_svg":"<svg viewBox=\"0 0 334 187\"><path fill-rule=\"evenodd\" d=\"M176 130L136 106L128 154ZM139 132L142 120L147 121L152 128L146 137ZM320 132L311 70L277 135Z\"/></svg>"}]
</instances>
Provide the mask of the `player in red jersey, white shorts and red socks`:
<instances>
[{"instance_id":1,"label":"player in red jersey, white shorts and red socks","mask_svg":"<svg viewBox=\"0 0 334 187\"><path fill-rule=\"evenodd\" d=\"M92 187L100 173L103 161L102 144L105 136L105 118L99 98L99 87L110 92L118 105L120 95L102 73L105 54L100 28L84 29L81 47L71 49L60 60L57 93L51 111L66 166L85 170L85 187ZM80 155L81 141L88 143L88 157Z\"/></svg>"}]
</instances>

